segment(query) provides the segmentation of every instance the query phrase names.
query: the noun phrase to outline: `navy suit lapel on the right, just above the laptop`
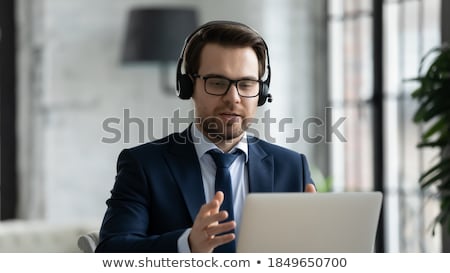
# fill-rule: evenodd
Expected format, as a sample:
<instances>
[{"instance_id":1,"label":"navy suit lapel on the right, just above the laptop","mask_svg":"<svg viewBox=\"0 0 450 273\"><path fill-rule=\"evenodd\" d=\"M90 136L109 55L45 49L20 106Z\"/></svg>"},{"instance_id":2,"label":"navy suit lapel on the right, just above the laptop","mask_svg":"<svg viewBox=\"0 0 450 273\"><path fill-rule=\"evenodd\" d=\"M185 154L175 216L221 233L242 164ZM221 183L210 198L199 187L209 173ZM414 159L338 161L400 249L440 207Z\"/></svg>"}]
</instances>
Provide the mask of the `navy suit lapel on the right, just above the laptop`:
<instances>
[{"instance_id":1,"label":"navy suit lapel on the right, just above the laptop","mask_svg":"<svg viewBox=\"0 0 450 273\"><path fill-rule=\"evenodd\" d=\"M248 181L249 192L273 192L273 156L268 155L258 144L258 139L248 139Z\"/></svg>"}]
</instances>

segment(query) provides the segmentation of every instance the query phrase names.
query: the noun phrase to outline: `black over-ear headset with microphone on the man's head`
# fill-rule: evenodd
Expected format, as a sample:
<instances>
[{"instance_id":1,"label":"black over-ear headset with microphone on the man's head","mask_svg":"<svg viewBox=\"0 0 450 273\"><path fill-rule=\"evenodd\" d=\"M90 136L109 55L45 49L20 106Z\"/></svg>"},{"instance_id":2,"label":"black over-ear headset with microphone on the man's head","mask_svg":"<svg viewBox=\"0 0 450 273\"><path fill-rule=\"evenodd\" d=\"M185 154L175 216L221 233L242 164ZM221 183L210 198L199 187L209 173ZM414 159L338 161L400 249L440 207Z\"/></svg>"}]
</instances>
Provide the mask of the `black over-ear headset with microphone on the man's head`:
<instances>
[{"instance_id":1,"label":"black over-ear headset with microphone on the man's head","mask_svg":"<svg viewBox=\"0 0 450 273\"><path fill-rule=\"evenodd\" d=\"M189 44L190 40L192 39L192 37L194 37L199 31L201 31L202 29L209 27L211 25L218 25L218 24L230 24L230 25L238 25L238 26L242 26L245 27L251 31L253 31L254 33L256 33L261 40L264 43L264 48L266 51L266 79L264 81L262 81L262 84L259 87L259 98L258 98L258 106L263 105L266 100L269 102L272 102L272 95L269 93L269 85L270 85L270 61L269 61L269 49L267 47L266 42L264 41L264 39L261 37L261 35L259 35L258 32L256 32L254 29L252 29L251 27L239 23L239 22L233 22L233 21L211 21L208 22L202 26L200 26L199 28L197 28L194 32L191 33L191 35L189 35L185 42L184 42L184 46L183 46L183 50L181 51L180 54L180 58L178 59L178 64L177 64L177 82L176 82L176 88L177 88L177 94L178 97L180 99L190 99L192 96L192 93L194 92L194 83L192 82L192 78L188 75L188 74L183 74L181 72L181 67L183 66L183 57L184 57L184 52L186 51L186 47Z\"/></svg>"}]
</instances>

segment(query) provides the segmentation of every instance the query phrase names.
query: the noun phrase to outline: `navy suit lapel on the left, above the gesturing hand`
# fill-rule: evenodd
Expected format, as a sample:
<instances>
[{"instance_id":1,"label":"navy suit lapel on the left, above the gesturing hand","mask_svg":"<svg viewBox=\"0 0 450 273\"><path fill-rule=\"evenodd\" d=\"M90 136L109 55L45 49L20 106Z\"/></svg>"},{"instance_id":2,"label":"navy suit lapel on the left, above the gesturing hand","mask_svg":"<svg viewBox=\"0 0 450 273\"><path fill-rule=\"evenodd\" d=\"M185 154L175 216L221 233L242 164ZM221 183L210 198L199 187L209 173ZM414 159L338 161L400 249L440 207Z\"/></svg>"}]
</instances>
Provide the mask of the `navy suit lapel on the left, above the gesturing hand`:
<instances>
[{"instance_id":1,"label":"navy suit lapel on the left, above the gesturing hand","mask_svg":"<svg viewBox=\"0 0 450 273\"><path fill-rule=\"evenodd\" d=\"M165 160L180 187L189 214L194 220L206 199L200 163L190 137L190 129L186 129L179 137L173 137L170 141L172 145L169 152L165 154Z\"/></svg>"}]
</instances>

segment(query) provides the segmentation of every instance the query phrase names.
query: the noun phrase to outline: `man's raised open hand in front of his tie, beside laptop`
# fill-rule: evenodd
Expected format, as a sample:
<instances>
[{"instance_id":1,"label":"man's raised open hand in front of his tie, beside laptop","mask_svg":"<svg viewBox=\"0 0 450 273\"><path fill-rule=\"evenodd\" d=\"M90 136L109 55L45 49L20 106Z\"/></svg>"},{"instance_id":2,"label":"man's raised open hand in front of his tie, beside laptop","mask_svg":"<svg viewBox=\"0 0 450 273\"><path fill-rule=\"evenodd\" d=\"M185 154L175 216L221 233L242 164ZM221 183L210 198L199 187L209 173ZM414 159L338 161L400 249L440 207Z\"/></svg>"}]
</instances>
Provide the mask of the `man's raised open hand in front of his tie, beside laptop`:
<instances>
[{"instance_id":1,"label":"man's raised open hand in front of his tie, beside laptop","mask_svg":"<svg viewBox=\"0 0 450 273\"><path fill-rule=\"evenodd\" d=\"M191 252L212 252L214 248L234 240L234 233L221 234L236 227L234 221L219 224L228 218L226 211L219 211L222 202L223 193L218 191L211 202L200 208L189 234Z\"/></svg>"}]
</instances>

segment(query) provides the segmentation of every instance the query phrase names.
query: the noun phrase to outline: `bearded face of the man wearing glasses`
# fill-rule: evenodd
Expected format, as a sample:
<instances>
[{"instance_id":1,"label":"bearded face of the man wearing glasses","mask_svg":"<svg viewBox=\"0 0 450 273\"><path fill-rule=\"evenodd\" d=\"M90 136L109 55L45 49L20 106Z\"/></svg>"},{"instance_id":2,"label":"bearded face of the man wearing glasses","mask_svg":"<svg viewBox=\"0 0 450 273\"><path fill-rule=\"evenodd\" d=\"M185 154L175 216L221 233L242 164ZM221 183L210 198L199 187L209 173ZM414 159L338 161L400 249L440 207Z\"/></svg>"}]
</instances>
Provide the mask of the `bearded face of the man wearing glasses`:
<instances>
[{"instance_id":1,"label":"bearded face of the man wearing glasses","mask_svg":"<svg viewBox=\"0 0 450 273\"><path fill-rule=\"evenodd\" d=\"M200 55L200 76L222 76L231 80L258 79L258 58L251 47L206 44ZM258 97L239 96L232 84L223 96L207 94L204 80L194 79L195 116L198 128L213 142L240 138L255 116Z\"/></svg>"}]
</instances>

